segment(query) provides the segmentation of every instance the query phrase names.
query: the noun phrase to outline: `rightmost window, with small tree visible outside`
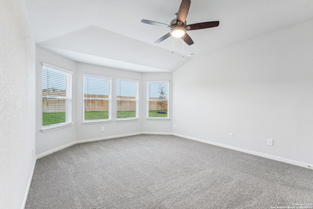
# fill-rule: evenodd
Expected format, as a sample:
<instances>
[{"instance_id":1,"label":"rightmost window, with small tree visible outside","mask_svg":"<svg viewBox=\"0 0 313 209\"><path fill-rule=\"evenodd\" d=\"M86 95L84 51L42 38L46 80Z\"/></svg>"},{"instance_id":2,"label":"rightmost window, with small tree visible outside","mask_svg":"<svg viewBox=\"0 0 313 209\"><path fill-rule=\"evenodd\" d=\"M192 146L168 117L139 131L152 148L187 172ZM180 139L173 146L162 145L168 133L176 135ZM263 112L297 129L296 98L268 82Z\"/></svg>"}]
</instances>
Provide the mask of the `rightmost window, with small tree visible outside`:
<instances>
[{"instance_id":1,"label":"rightmost window, with small tree visible outside","mask_svg":"<svg viewBox=\"0 0 313 209\"><path fill-rule=\"evenodd\" d=\"M147 118L168 118L169 81L147 82Z\"/></svg>"}]
</instances>

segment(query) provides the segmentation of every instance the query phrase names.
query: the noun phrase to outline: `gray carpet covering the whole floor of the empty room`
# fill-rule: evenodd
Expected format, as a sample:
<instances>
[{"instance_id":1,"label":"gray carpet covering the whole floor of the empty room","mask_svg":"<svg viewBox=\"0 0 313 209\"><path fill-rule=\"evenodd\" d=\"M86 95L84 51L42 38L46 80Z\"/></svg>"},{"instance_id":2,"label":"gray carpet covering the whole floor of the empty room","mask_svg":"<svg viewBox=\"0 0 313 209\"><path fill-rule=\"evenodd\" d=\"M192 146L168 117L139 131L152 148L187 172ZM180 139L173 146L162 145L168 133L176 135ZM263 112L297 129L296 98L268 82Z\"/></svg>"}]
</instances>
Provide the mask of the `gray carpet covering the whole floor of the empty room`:
<instances>
[{"instance_id":1,"label":"gray carpet covering the whole floor of the empty room","mask_svg":"<svg viewBox=\"0 0 313 209\"><path fill-rule=\"evenodd\" d=\"M313 204L313 170L175 136L75 144L37 160L26 209ZM313 207L311 207L313 208Z\"/></svg>"}]
</instances>

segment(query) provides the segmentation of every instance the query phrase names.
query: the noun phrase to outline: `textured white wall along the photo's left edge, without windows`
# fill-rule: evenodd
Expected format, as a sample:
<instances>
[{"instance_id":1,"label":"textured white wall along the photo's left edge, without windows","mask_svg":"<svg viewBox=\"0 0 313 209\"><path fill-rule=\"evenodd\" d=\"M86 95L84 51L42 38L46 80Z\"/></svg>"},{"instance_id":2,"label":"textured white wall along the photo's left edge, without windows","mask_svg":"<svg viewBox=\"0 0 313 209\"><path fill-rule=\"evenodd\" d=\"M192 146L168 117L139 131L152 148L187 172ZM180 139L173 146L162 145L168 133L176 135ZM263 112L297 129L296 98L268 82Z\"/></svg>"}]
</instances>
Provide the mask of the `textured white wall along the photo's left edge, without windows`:
<instances>
[{"instance_id":1,"label":"textured white wall along the photo's left edge, without windows","mask_svg":"<svg viewBox=\"0 0 313 209\"><path fill-rule=\"evenodd\" d=\"M23 0L0 6L0 209L21 209L35 141L35 43Z\"/></svg>"}]
</instances>

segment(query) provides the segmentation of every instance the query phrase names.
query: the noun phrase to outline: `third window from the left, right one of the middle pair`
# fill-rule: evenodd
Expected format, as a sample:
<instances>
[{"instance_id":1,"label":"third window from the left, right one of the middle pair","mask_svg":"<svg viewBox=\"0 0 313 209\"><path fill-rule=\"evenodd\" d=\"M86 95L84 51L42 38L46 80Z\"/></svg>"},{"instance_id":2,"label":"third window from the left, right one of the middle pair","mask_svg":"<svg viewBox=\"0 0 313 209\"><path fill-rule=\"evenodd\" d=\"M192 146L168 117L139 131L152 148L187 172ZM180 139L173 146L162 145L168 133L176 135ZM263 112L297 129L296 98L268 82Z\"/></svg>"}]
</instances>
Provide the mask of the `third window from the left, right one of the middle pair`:
<instances>
[{"instance_id":1,"label":"third window from the left, right one of the middle pair","mask_svg":"<svg viewBox=\"0 0 313 209\"><path fill-rule=\"evenodd\" d=\"M117 119L138 118L138 81L117 78Z\"/></svg>"}]
</instances>

